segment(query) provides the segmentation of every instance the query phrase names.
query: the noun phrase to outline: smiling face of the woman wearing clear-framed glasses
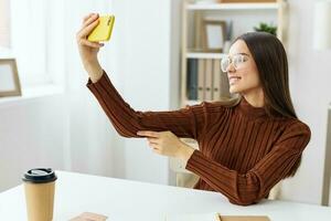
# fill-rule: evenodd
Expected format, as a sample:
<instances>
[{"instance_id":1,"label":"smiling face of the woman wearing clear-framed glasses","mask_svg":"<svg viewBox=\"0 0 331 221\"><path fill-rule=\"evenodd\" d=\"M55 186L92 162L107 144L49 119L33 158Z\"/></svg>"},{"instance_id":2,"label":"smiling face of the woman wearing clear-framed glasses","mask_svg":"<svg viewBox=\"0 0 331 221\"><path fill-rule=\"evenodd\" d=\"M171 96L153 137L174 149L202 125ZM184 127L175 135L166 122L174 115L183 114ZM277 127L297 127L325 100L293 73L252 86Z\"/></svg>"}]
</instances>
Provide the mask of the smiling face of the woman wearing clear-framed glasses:
<instances>
[{"instance_id":1,"label":"smiling face of the woman wearing clear-framed glasses","mask_svg":"<svg viewBox=\"0 0 331 221\"><path fill-rule=\"evenodd\" d=\"M237 40L231 46L228 57L226 71L231 93L245 95L261 90L256 63L243 40Z\"/></svg>"}]
</instances>

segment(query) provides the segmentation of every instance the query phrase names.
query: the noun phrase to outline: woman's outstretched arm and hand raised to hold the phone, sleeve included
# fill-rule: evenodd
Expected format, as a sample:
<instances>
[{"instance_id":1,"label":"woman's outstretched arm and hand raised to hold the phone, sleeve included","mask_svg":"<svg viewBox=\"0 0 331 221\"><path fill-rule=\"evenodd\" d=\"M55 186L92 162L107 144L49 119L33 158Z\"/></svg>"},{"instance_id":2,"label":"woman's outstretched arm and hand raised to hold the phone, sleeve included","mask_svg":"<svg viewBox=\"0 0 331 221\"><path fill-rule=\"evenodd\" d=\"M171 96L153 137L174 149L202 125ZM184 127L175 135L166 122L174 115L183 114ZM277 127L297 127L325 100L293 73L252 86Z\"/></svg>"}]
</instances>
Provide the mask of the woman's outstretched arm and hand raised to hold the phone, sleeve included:
<instances>
[{"instance_id":1,"label":"woman's outstretched arm and hand raised to hold the phone, sleeve included","mask_svg":"<svg viewBox=\"0 0 331 221\"><path fill-rule=\"evenodd\" d=\"M203 105L175 112L136 112L121 98L97 59L104 44L87 40L97 24L98 14L86 15L76 40L82 63L89 76L87 87L96 96L116 130L125 137L138 137L138 130L171 130L179 137L196 139L204 125Z\"/></svg>"}]
</instances>

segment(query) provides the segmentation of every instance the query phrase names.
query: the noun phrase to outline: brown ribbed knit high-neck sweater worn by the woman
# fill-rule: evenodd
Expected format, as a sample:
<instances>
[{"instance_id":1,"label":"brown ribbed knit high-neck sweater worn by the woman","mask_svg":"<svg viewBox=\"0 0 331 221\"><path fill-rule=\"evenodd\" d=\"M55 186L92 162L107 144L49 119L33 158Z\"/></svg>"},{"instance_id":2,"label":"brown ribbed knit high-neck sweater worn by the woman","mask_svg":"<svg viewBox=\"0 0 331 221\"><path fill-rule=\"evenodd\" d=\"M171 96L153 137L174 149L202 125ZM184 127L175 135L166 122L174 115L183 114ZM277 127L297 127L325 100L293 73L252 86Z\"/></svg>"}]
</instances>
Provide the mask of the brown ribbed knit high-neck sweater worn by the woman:
<instances>
[{"instance_id":1,"label":"brown ribbed knit high-neck sweater worn by the woman","mask_svg":"<svg viewBox=\"0 0 331 221\"><path fill-rule=\"evenodd\" d=\"M87 87L124 137L139 137L138 130L171 130L196 139L200 150L186 164L200 177L195 188L221 192L236 204L267 197L290 175L310 140L306 124L269 117L244 98L234 107L203 102L173 112L138 112L121 98L106 73Z\"/></svg>"}]
</instances>

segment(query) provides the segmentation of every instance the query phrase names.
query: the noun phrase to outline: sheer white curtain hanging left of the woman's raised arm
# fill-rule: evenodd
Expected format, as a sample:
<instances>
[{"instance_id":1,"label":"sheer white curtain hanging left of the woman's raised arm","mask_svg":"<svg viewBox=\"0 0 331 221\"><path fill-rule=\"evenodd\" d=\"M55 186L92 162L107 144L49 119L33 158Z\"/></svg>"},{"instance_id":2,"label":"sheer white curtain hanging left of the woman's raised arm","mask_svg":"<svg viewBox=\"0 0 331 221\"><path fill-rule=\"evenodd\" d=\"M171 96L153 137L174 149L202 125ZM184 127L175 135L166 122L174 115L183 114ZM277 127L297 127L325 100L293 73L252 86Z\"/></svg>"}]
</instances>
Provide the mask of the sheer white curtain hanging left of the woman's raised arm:
<instances>
[{"instance_id":1,"label":"sheer white curtain hanging left of the woman's raised arm","mask_svg":"<svg viewBox=\"0 0 331 221\"><path fill-rule=\"evenodd\" d=\"M75 10L72 10L75 8ZM83 18L90 12L105 13L111 3L103 1L64 1L64 66L65 66L65 106L67 143L65 148L68 170L95 175L111 176L114 171L111 141L114 129L99 108L94 96L86 87L88 80L84 71L76 44L76 33L82 27ZM106 57L108 54L103 52Z\"/></svg>"}]
</instances>

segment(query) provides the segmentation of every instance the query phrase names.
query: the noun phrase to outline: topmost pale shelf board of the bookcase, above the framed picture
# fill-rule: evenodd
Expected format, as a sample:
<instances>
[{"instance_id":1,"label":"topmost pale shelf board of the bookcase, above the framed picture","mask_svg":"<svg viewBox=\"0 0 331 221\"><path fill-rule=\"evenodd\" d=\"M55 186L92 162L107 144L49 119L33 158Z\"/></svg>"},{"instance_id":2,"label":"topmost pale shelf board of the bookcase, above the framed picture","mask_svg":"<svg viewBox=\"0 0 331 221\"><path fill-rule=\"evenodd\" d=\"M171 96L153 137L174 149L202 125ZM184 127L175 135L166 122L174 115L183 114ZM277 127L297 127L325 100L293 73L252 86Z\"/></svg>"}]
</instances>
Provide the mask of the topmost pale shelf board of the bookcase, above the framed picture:
<instances>
[{"instance_id":1,"label":"topmost pale shelf board of the bookcase, above the framed picture","mask_svg":"<svg viewBox=\"0 0 331 221\"><path fill-rule=\"evenodd\" d=\"M277 10L279 3L191 3L186 10Z\"/></svg>"}]
</instances>

